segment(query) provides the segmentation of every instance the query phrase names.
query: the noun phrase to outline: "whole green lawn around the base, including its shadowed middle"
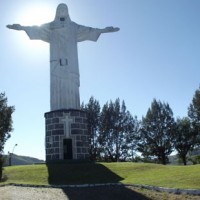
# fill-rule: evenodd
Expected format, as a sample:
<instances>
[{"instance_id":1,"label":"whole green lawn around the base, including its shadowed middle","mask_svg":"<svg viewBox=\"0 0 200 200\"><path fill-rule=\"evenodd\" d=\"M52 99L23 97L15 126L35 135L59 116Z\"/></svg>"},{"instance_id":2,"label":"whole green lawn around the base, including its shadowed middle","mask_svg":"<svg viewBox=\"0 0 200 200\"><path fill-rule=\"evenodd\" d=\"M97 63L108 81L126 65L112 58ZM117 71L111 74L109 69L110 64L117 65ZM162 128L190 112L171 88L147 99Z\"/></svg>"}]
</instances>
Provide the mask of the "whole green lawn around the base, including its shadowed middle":
<instances>
[{"instance_id":1,"label":"whole green lawn around the base, including its shadowed middle","mask_svg":"<svg viewBox=\"0 0 200 200\"><path fill-rule=\"evenodd\" d=\"M200 189L200 165L145 163L55 163L5 167L0 184L123 183Z\"/></svg>"}]
</instances>

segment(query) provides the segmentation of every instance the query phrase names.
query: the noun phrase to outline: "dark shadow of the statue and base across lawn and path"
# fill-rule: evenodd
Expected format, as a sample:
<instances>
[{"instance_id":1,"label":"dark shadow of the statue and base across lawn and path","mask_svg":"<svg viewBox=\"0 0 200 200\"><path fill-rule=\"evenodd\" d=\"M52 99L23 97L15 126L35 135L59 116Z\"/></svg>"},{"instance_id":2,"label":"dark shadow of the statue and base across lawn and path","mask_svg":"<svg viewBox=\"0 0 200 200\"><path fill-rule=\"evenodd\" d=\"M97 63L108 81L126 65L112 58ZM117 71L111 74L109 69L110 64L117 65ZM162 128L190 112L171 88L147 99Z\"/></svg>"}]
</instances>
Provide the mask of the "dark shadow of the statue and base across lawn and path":
<instances>
[{"instance_id":1,"label":"dark shadow of the statue and base across lawn and path","mask_svg":"<svg viewBox=\"0 0 200 200\"><path fill-rule=\"evenodd\" d=\"M123 185L95 187L62 187L62 185L120 183L122 177L102 164L91 162L47 163L49 184L60 185L66 197L73 200L150 200Z\"/></svg>"}]
</instances>

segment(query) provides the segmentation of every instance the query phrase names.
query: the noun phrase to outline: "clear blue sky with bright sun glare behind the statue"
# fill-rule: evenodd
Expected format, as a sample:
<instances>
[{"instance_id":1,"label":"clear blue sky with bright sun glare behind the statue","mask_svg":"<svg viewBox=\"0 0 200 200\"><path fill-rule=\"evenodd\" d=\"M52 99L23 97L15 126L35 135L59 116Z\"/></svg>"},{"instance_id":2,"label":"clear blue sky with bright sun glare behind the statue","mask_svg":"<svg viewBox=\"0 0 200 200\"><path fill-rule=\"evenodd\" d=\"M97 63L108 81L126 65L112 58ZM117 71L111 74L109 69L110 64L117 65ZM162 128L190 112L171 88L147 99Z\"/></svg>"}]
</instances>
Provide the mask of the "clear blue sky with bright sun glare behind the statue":
<instances>
[{"instance_id":1,"label":"clear blue sky with bright sun glare behind the statue","mask_svg":"<svg viewBox=\"0 0 200 200\"><path fill-rule=\"evenodd\" d=\"M50 22L59 3L78 24L120 28L79 43L81 102L93 95L103 106L119 97L141 119L156 98L169 103L175 118L187 115L200 84L199 0L4 0L0 92L16 108L5 153L17 143L16 154L44 159L50 110L48 44L6 25Z\"/></svg>"}]
</instances>

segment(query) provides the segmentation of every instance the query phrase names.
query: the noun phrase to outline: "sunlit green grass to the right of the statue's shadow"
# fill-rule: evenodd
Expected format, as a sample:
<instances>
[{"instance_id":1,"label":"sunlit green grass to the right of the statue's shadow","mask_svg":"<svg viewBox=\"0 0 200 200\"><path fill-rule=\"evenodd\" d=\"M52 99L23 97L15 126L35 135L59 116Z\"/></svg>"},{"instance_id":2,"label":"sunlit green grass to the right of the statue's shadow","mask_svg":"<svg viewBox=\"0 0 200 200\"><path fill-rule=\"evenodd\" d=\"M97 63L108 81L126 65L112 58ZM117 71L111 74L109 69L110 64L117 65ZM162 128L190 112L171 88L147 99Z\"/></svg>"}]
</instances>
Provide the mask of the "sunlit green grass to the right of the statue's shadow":
<instances>
[{"instance_id":1,"label":"sunlit green grass to the right of the statue's shadow","mask_svg":"<svg viewBox=\"0 0 200 200\"><path fill-rule=\"evenodd\" d=\"M171 166L157 164L106 164L124 178L122 183L155 185L172 188L200 189L200 165Z\"/></svg>"}]
</instances>

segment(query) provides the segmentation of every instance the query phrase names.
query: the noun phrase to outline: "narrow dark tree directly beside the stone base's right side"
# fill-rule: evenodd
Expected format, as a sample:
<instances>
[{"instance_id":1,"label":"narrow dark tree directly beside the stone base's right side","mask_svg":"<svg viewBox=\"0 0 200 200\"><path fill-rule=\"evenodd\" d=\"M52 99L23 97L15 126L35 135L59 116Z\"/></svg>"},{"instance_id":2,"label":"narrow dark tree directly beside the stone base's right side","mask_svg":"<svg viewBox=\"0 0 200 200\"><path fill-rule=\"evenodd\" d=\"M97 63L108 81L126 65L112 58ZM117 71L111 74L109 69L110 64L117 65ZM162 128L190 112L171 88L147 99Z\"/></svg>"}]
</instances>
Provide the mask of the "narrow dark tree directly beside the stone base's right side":
<instances>
[{"instance_id":1,"label":"narrow dark tree directly beside the stone base's right side","mask_svg":"<svg viewBox=\"0 0 200 200\"><path fill-rule=\"evenodd\" d=\"M100 104L96 99L94 99L94 97L91 97L89 103L82 107L84 107L84 110L87 113L90 159L96 160L98 154L97 137L99 128Z\"/></svg>"}]
</instances>

